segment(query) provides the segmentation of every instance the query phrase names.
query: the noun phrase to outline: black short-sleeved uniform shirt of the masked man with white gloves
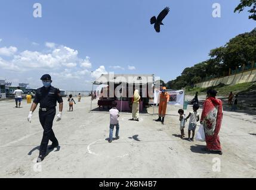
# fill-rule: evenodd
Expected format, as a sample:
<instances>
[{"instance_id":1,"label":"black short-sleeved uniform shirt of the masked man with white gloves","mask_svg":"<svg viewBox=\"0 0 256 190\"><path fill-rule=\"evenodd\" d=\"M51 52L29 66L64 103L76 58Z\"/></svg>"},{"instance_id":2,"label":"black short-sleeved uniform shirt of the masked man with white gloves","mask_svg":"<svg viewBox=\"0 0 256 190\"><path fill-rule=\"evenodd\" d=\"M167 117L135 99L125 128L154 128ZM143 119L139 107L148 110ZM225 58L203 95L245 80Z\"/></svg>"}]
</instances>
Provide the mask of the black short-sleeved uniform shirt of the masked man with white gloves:
<instances>
[{"instance_id":1,"label":"black short-sleeved uniform shirt of the masked man with white gloves","mask_svg":"<svg viewBox=\"0 0 256 190\"><path fill-rule=\"evenodd\" d=\"M60 96L60 90L50 86L49 88L38 88L33 102L36 104L40 103L40 107L42 108L50 108L55 107L57 102L61 103L63 100Z\"/></svg>"}]
</instances>

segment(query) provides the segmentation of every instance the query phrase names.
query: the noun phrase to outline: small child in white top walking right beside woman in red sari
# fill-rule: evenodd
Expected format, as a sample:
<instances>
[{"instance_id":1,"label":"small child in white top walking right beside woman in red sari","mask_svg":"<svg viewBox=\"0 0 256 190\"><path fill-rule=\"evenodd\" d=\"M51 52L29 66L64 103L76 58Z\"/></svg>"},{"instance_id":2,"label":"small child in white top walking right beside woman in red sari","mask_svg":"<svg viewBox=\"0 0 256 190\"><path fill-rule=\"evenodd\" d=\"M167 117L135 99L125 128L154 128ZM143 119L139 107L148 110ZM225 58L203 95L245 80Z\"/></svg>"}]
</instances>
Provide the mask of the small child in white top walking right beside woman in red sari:
<instances>
[{"instance_id":1,"label":"small child in white top walking right beside woman in red sari","mask_svg":"<svg viewBox=\"0 0 256 190\"><path fill-rule=\"evenodd\" d=\"M187 116L187 119L189 120L189 141L194 141L195 137L195 131L196 131L196 124L199 121L199 113L198 113L199 105L195 104L193 105L193 111L189 112L189 116ZM192 131L192 138L190 138L190 133Z\"/></svg>"}]
</instances>

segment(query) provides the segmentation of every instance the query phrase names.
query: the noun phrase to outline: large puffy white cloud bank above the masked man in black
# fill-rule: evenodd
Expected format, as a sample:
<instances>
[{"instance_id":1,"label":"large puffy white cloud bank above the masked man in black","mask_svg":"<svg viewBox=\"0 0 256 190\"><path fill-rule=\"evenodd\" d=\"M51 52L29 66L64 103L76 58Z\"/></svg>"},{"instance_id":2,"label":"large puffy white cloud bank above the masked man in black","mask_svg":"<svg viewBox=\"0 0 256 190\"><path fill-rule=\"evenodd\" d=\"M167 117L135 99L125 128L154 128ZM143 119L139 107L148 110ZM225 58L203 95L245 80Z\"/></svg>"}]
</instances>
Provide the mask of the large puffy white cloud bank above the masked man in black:
<instances>
[{"instance_id":1,"label":"large puffy white cloud bank above the masked man in black","mask_svg":"<svg viewBox=\"0 0 256 190\"><path fill-rule=\"evenodd\" d=\"M90 57L79 58L78 50L66 46L55 45L47 52L31 50L17 52L16 47L4 47L1 50L4 55L15 54L10 58L1 58L0 56L0 74L8 71L19 72L21 79L23 78L22 80L26 80L25 82L30 85L41 85L38 75L50 72L54 84L58 84L60 88L63 87L68 90L74 87L78 90L88 90L88 84L93 80L92 77L97 78L101 74L107 74L104 66L91 72L88 69L92 67ZM9 50L9 54L7 50ZM8 74L13 75L13 77L16 76L16 73L9 72ZM36 81L33 78L36 78Z\"/></svg>"}]
</instances>

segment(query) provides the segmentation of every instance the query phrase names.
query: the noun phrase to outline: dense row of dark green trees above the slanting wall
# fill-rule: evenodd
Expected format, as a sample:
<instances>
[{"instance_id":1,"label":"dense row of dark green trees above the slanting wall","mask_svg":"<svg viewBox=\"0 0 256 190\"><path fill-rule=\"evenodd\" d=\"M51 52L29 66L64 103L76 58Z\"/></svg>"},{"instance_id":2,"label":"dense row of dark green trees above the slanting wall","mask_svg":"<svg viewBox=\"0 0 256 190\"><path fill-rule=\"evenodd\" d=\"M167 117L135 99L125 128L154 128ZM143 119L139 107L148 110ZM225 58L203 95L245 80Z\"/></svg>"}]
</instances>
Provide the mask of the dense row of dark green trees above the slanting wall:
<instances>
[{"instance_id":1,"label":"dense row of dark green trees above the slanting wall","mask_svg":"<svg viewBox=\"0 0 256 190\"><path fill-rule=\"evenodd\" d=\"M229 40L226 45L212 49L210 58L184 71L175 80L166 83L166 87L178 90L187 85L193 86L207 78L217 78L229 75L229 68L242 71L252 68L256 61L256 28L250 33L239 34Z\"/></svg>"}]
</instances>

